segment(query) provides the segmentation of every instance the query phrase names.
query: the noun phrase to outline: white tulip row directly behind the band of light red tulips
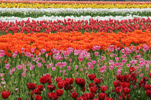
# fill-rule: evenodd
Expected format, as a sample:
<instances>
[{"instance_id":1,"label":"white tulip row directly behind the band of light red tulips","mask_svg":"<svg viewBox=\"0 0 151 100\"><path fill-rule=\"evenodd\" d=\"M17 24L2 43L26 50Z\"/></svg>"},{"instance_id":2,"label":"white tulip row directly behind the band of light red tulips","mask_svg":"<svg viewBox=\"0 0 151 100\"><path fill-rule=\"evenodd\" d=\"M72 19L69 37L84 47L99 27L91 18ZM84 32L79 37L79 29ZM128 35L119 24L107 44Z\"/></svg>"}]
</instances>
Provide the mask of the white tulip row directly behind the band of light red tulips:
<instances>
[{"instance_id":1,"label":"white tulip row directly behind the band of light red tulips","mask_svg":"<svg viewBox=\"0 0 151 100\"><path fill-rule=\"evenodd\" d=\"M30 16L30 15L27 15ZM129 15L129 16L104 16L104 17L100 17L100 16L96 16L96 17L92 17L92 16L80 16L80 17L74 17L74 16L43 16L43 17L38 17L38 18L32 18L32 17L25 17L25 18L21 18L21 17L0 17L1 21L6 21L6 22L16 22L17 21L27 21L27 20L35 20L35 21L64 21L64 20L73 20L73 21L88 21L93 19L93 20L99 20L99 21L106 21L106 20L118 20L118 21L122 21L122 20L133 20L133 19L151 19L151 16L146 17L146 16L137 16L137 15Z\"/></svg>"}]
</instances>

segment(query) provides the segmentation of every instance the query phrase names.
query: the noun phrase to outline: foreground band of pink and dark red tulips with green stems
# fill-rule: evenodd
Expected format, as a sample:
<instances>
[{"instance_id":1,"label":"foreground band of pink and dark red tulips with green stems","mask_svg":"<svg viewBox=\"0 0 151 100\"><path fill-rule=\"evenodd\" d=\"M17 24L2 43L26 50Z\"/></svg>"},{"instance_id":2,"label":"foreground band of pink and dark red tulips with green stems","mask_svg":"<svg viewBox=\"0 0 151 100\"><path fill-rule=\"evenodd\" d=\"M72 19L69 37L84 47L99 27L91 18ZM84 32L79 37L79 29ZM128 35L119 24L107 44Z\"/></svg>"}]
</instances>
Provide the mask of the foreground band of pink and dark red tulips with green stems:
<instances>
[{"instance_id":1,"label":"foreground band of pink and dark red tulips with green stems","mask_svg":"<svg viewBox=\"0 0 151 100\"><path fill-rule=\"evenodd\" d=\"M149 100L150 48L101 48L95 45L90 52L53 48L52 56L44 48L37 56L36 49L30 53L21 48L21 55L16 49L12 57L0 50L0 99Z\"/></svg>"}]
</instances>

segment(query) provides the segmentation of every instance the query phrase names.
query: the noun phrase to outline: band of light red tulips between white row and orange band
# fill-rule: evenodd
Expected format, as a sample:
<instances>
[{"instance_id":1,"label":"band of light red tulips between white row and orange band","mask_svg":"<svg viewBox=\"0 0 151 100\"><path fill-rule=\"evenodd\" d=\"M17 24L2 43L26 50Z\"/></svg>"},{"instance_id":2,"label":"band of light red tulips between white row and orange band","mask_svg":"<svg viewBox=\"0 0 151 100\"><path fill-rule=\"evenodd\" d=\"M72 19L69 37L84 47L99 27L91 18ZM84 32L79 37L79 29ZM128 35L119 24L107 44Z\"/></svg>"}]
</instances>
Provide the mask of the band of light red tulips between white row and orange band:
<instances>
[{"instance_id":1,"label":"band of light red tulips between white row and orange band","mask_svg":"<svg viewBox=\"0 0 151 100\"><path fill-rule=\"evenodd\" d=\"M129 20L78 20L73 21L73 19L68 19L64 21L35 21L26 20L26 21L17 21L14 22L3 22L0 21L0 30L2 32L69 32L69 31L96 31L96 32L117 32L121 31L123 33L132 32L134 30L149 30L151 31L151 19L145 18L135 18Z\"/></svg>"}]
</instances>

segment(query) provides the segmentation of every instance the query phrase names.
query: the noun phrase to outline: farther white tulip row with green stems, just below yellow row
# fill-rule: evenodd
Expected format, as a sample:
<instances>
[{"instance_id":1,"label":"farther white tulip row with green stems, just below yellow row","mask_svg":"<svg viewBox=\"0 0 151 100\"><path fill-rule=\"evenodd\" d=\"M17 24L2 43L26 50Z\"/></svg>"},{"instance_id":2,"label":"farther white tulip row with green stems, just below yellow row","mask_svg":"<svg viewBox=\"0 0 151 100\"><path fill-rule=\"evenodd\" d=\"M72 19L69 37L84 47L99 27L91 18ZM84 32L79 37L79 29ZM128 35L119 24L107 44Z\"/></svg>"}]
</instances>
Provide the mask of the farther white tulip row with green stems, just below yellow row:
<instances>
[{"instance_id":1,"label":"farther white tulip row with green stems, just below yellow row","mask_svg":"<svg viewBox=\"0 0 151 100\"><path fill-rule=\"evenodd\" d=\"M47 9L32 9L32 8L1 8L0 16L15 16L15 17L42 17L42 16L151 16L151 8L146 9L71 9L71 8L47 8Z\"/></svg>"}]
</instances>

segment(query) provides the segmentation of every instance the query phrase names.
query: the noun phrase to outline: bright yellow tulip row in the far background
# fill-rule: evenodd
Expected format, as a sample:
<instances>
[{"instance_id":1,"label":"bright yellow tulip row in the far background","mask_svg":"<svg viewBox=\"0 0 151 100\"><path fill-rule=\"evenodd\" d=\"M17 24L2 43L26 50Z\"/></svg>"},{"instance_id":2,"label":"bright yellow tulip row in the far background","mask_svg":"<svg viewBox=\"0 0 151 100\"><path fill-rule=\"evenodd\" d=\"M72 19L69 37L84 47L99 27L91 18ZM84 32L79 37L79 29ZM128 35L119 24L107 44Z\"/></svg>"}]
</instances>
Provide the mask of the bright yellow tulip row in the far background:
<instances>
[{"instance_id":1,"label":"bright yellow tulip row in the far background","mask_svg":"<svg viewBox=\"0 0 151 100\"><path fill-rule=\"evenodd\" d=\"M52 4L52 3L0 3L1 8L151 8L151 4Z\"/></svg>"}]
</instances>

